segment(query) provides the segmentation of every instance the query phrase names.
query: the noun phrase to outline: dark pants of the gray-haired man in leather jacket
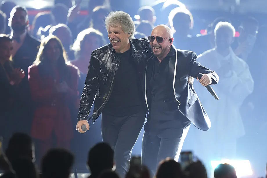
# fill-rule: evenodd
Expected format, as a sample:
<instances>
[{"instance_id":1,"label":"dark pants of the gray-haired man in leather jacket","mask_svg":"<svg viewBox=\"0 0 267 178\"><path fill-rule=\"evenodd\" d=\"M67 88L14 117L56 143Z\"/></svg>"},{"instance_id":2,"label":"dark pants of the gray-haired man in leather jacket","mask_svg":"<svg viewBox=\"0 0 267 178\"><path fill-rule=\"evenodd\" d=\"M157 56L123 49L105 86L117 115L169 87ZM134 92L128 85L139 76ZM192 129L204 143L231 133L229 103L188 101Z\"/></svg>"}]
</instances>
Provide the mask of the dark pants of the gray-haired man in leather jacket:
<instances>
[{"instance_id":1,"label":"dark pants of the gray-haired man in leather jacket","mask_svg":"<svg viewBox=\"0 0 267 178\"><path fill-rule=\"evenodd\" d=\"M145 122L146 114L111 116L102 113L101 132L103 142L114 149L116 172L125 177L129 170L131 151Z\"/></svg>"}]
</instances>

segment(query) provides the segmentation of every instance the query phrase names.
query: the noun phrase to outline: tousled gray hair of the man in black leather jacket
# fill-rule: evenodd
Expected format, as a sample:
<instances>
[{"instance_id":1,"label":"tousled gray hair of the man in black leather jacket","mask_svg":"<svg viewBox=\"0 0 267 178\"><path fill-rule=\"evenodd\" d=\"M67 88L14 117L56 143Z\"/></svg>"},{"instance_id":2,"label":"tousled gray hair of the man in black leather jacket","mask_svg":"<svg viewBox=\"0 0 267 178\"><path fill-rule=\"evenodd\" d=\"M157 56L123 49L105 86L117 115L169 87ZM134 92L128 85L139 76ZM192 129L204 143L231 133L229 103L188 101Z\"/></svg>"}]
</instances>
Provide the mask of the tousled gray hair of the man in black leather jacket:
<instances>
[{"instance_id":1,"label":"tousled gray hair of the man in black leather jacket","mask_svg":"<svg viewBox=\"0 0 267 178\"><path fill-rule=\"evenodd\" d=\"M123 11L112 11L105 19L107 30L109 27L121 27L124 33L130 33L129 40L134 38L134 21L129 14Z\"/></svg>"}]
</instances>

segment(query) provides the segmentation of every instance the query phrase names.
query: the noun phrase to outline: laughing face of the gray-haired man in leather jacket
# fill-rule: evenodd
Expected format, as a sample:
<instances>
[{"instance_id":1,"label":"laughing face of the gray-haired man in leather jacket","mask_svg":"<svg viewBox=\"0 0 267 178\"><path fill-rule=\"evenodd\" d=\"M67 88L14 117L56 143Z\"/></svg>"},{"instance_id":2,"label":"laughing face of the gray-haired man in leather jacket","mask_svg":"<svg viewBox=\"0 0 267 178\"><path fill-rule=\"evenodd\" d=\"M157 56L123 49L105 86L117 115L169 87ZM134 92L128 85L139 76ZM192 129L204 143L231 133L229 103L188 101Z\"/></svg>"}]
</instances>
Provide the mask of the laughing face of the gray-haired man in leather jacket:
<instances>
[{"instance_id":1,"label":"laughing face of the gray-haired man in leather jacket","mask_svg":"<svg viewBox=\"0 0 267 178\"><path fill-rule=\"evenodd\" d=\"M121 27L109 27L108 37L117 53L123 53L130 48L130 34L123 32Z\"/></svg>"}]
</instances>

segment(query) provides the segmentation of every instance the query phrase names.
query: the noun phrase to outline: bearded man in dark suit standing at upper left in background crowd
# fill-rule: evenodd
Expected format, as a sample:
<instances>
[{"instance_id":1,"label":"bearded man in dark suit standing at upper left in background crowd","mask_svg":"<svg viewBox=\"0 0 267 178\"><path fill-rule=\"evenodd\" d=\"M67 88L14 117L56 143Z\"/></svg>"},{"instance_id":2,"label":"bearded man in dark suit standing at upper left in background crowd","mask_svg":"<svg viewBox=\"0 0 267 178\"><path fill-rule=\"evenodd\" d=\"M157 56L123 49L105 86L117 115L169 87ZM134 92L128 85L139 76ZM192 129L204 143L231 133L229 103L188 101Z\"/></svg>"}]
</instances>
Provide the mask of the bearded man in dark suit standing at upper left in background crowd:
<instances>
[{"instance_id":1,"label":"bearded man in dark suit standing at upper left in background crowd","mask_svg":"<svg viewBox=\"0 0 267 178\"><path fill-rule=\"evenodd\" d=\"M28 34L27 28L29 25L28 12L25 7L15 6L10 12L9 27L11 28L10 36L13 39L12 50L12 63L14 68L19 68L25 71L25 77L19 84L19 93L16 97L16 106L19 115L13 116L17 118L16 125L18 128L14 128L17 132L29 132L30 130L30 90L28 85L28 66L32 65L37 55L37 47L40 42L34 37ZM19 118L18 118L19 117ZM22 125L21 125L22 124ZM10 126L11 127L11 126Z\"/></svg>"}]
</instances>

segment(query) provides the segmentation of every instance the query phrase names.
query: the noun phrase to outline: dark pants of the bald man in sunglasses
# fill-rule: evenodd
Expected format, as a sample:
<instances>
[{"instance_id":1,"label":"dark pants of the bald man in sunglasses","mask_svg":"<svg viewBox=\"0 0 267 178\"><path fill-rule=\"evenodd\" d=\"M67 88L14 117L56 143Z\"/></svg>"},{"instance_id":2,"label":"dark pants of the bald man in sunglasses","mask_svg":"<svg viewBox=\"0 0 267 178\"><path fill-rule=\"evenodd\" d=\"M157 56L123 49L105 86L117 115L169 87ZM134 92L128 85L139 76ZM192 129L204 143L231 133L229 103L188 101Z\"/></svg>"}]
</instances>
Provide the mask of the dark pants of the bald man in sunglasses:
<instances>
[{"instance_id":1,"label":"dark pants of the bald man in sunglasses","mask_svg":"<svg viewBox=\"0 0 267 178\"><path fill-rule=\"evenodd\" d=\"M148 167L152 174L151 177L155 175L158 163L166 157L178 161L190 123L177 129L175 133L172 133L175 136L170 135L169 138L150 134L145 130L142 141L142 164Z\"/></svg>"}]
</instances>

